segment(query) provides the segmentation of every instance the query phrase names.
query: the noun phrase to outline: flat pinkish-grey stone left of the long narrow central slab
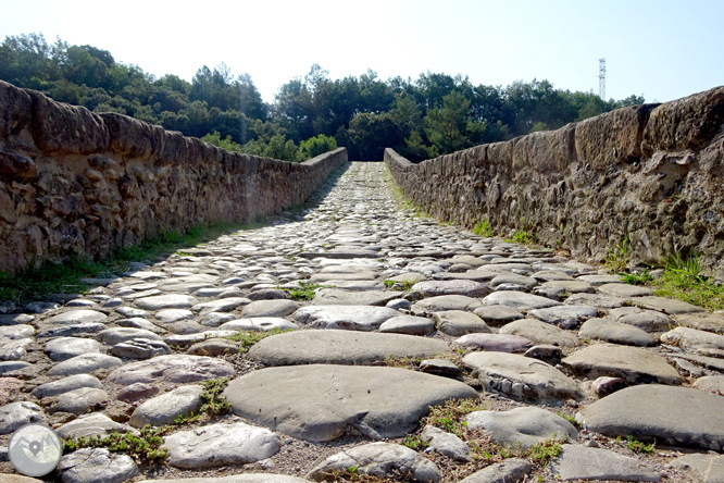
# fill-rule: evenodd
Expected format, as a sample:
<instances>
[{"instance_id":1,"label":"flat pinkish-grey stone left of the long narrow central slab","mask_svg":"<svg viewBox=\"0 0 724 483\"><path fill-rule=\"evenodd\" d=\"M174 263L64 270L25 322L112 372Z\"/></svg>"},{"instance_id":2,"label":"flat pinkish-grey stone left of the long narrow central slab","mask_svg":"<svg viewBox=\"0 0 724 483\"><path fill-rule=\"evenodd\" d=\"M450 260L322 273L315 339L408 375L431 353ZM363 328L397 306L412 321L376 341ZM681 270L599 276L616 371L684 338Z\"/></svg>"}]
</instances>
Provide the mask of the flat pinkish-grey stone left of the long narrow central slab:
<instances>
[{"instance_id":1,"label":"flat pinkish-grey stone left of the long narrow central slab","mask_svg":"<svg viewBox=\"0 0 724 483\"><path fill-rule=\"evenodd\" d=\"M111 372L107 381L123 385L137 382L187 383L233 374L234 366L225 360L173 354L122 366Z\"/></svg>"}]
</instances>

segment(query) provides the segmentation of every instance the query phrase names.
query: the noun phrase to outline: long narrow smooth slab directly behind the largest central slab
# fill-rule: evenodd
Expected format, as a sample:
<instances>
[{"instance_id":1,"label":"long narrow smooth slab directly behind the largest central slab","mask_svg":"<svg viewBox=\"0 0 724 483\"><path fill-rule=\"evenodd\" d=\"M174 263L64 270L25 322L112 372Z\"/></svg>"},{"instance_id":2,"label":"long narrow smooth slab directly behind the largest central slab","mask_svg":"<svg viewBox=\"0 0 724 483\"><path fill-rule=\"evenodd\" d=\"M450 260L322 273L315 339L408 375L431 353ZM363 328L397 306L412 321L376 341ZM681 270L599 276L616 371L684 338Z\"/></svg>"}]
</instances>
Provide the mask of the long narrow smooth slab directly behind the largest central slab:
<instances>
[{"instance_id":1,"label":"long narrow smooth slab directly behind the largest central slab","mask_svg":"<svg viewBox=\"0 0 724 483\"><path fill-rule=\"evenodd\" d=\"M249 350L265 366L370 364L386 357L433 357L450 351L440 339L376 332L296 331L266 337Z\"/></svg>"}]
</instances>

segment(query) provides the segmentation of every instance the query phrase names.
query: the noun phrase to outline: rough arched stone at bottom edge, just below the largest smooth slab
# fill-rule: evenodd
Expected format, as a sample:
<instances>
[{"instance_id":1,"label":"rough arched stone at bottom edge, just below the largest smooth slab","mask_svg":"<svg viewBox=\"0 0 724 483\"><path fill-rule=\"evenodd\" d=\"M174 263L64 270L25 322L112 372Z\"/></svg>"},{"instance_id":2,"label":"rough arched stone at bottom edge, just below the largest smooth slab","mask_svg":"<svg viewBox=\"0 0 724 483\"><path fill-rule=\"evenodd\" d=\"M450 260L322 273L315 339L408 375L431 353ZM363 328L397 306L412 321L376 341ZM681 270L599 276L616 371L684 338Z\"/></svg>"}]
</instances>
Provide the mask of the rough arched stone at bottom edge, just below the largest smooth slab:
<instances>
[{"instance_id":1,"label":"rough arched stone at bottom edge, just below the largest smooth slab","mask_svg":"<svg viewBox=\"0 0 724 483\"><path fill-rule=\"evenodd\" d=\"M354 468L360 474L395 478L396 473L416 483L437 483L442 474L437 466L407 446L370 443L330 456L309 472L314 481L327 480L334 472Z\"/></svg>"}]
</instances>

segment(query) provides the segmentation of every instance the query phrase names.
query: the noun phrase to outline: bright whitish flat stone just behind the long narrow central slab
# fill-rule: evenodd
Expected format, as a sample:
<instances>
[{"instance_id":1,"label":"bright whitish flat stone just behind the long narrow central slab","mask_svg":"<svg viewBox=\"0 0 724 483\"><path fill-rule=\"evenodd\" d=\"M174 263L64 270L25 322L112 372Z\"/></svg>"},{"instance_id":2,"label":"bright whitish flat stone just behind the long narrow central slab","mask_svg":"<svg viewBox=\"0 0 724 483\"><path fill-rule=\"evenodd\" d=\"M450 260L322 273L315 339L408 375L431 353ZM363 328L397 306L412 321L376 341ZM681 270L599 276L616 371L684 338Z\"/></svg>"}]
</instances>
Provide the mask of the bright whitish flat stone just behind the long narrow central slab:
<instances>
[{"instance_id":1,"label":"bright whitish flat stone just behind the long narrow central slab","mask_svg":"<svg viewBox=\"0 0 724 483\"><path fill-rule=\"evenodd\" d=\"M297 310L291 318L295 322L313 329L374 331L386 320L398 315L400 312L387 307L308 306Z\"/></svg>"}]
</instances>

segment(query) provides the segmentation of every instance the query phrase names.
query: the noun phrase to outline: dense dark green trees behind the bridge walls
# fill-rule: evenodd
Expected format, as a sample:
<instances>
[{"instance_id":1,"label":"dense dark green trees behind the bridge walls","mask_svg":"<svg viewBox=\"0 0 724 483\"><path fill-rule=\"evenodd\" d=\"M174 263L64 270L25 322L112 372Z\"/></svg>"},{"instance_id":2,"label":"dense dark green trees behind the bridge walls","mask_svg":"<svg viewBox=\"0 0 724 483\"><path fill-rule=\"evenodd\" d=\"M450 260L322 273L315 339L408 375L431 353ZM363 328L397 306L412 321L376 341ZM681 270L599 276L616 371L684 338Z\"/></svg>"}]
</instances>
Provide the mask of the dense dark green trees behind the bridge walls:
<instances>
[{"instance_id":1,"label":"dense dark green trees behind the bridge walls","mask_svg":"<svg viewBox=\"0 0 724 483\"><path fill-rule=\"evenodd\" d=\"M380 160L392 147L421 160L644 102L642 96L603 101L536 79L501 87L429 72L387 82L373 71L334 81L327 74L312 65L267 104L249 74L234 77L224 63L204 65L188 83L173 74L155 78L91 46L49 45L39 34L5 37L0 45L0 78L18 87L288 161L333 146L346 146L350 159Z\"/></svg>"}]
</instances>

